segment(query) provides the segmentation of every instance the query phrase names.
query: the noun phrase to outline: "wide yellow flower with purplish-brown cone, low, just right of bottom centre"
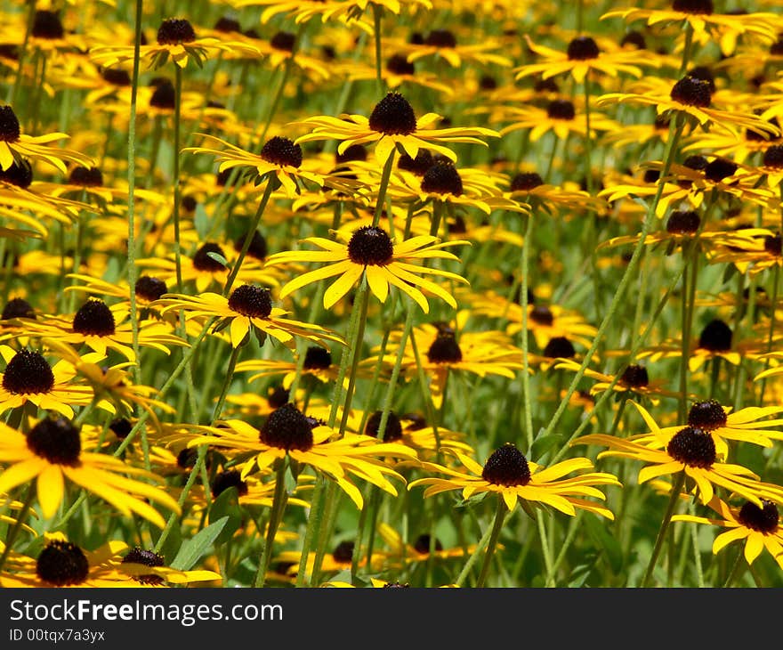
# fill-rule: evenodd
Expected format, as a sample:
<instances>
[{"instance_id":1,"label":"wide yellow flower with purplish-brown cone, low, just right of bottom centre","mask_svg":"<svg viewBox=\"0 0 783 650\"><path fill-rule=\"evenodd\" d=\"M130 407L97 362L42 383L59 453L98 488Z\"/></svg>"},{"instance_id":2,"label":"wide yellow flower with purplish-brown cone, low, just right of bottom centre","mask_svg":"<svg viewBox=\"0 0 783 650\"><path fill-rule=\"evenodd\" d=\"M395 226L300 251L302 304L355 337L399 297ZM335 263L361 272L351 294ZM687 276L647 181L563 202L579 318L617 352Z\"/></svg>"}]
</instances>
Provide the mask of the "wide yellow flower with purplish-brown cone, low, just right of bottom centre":
<instances>
[{"instance_id":1,"label":"wide yellow flower with purplish-brown cone, low, just right of bottom centre","mask_svg":"<svg viewBox=\"0 0 783 650\"><path fill-rule=\"evenodd\" d=\"M577 509L614 519L609 508L584 497L605 500L606 496L595 485L621 485L617 477L603 472L587 472L563 478L572 472L592 469L589 459L563 460L552 467L544 467L525 458L513 443L506 443L493 451L481 467L470 456L455 452L463 469L452 469L436 463L422 463L426 470L445 474L448 478L419 478L408 484L408 490L426 485L424 497L440 492L462 491L463 499L474 494L495 492L511 511L521 501L525 506L551 506L560 512L575 516Z\"/></svg>"}]
</instances>

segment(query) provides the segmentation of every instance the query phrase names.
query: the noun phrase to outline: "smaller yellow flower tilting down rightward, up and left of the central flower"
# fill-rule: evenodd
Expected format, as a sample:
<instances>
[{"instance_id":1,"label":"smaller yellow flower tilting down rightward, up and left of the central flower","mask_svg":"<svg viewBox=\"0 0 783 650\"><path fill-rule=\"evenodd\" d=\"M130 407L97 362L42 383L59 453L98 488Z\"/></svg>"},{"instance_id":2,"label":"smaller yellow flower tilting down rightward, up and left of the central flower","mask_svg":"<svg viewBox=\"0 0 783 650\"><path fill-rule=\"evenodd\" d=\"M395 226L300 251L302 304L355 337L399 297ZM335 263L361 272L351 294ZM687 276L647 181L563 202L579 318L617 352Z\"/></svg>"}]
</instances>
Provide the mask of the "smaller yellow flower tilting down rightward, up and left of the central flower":
<instances>
[{"instance_id":1,"label":"smaller yellow flower tilting down rightward, up and left of the central flower","mask_svg":"<svg viewBox=\"0 0 783 650\"><path fill-rule=\"evenodd\" d=\"M206 147L186 147L183 151L194 153L208 153L217 158L221 165L218 173L234 167L250 167L257 174L255 184L269 181L275 177L278 183L285 189L289 199L293 199L300 193L299 182L309 181L319 187L323 187L323 176L315 172L306 171L302 167L302 147L288 138L275 135L264 143L261 153L255 155L250 151L235 147L213 135L200 134L207 142L219 145L220 149Z\"/></svg>"}]
</instances>

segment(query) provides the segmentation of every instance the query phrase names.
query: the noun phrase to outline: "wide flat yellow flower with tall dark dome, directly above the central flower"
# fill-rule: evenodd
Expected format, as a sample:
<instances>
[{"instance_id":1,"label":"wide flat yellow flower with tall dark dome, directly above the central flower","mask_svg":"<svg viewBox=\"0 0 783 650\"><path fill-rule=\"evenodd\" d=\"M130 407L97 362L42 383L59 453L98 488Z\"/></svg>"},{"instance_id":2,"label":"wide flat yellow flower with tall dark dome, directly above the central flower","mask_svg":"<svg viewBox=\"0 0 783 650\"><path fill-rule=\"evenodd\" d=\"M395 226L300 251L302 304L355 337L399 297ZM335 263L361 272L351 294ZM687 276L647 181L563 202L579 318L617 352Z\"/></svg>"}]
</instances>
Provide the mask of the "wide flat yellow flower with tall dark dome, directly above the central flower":
<instances>
[{"instance_id":1,"label":"wide flat yellow flower with tall dark dome, directly above the central flower","mask_svg":"<svg viewBox=\"0 0 783 650\"><path fill-rule=\"evenodd\" d=\"M388 93L375 104L369 118L363 115L343 115L340 118L317 116L305 118L294 124L312 126L310 134L300 135L295 142L340 140L337 152L342 154L352 144L375 142L375 158L385 163L395 147L416 158L419 149L431 149L456 160L456 153L444 142L487 143L478 136L499 137L496 131L480 126L432 128L440 120L437 113L427 113L416 119L410 102L400 93Z\"/></svg>"}]
</instances>

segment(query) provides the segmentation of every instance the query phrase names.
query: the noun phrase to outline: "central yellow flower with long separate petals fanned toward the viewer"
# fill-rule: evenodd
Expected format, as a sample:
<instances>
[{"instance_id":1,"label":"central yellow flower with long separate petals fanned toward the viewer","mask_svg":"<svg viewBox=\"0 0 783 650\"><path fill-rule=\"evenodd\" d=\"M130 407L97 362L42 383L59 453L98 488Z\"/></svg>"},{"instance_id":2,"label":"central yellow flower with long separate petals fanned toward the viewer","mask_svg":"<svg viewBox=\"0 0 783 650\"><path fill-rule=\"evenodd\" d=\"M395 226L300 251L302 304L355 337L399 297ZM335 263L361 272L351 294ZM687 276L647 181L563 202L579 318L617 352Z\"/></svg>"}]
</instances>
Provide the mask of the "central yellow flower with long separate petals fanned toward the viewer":
<instances>
[{"instance_id":1,"label":"central yellow flower with long separate petals fanned toward the viewer","mask_svg":"<svg viewBox=\"0 0 783 650\"><path fill-rule=\"evenodd\" d=\"M432 258L458 261L458 257L443 248L469 242L464 240L441 242L437 237L419 235L395 244L383 228L372 225L362 226L353 232L343 228L335 234L340 241L322 237L309 237L304 240L322 250L286 251L269 257L268 266L292 262L331 263L289 280L280 290L281 298L311 282L337 275L339 276L337 280L332 282L324 292L324 307L330 309L364 276L370 290L381 302L385 302L389 296L389 285L391 285L415 300L424 313L429 313L430 305L420 288L456 308L454 297L446 289L422 275L437 275L457 282L467 282L467 280L454 272L428 268L416 264L416 261Z\"/></svg>"}]
</instances>

